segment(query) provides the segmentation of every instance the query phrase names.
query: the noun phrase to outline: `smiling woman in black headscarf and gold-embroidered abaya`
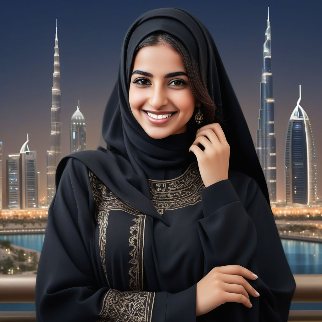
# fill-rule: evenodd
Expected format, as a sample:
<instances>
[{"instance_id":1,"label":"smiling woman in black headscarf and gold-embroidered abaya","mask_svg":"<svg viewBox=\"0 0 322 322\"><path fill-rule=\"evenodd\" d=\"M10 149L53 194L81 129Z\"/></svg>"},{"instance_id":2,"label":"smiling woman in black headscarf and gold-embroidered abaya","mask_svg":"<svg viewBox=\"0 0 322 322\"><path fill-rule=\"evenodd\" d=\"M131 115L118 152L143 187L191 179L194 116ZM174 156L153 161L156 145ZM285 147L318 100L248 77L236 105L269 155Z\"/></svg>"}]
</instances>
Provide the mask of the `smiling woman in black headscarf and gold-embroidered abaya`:
<instances>
[{"instance_id":1,"label":"smiling woman in black headscarf and gold-embroidered abaya","mask_svg":"<svg viewBox=\"0 0 322 322\"><path fill-rule=\"evenodd\" d=\"M109 149L57 168L37 321L287 321L295 282L266 182L194 15L129 27L102 135Z\"/></svg>"}]
</instances>

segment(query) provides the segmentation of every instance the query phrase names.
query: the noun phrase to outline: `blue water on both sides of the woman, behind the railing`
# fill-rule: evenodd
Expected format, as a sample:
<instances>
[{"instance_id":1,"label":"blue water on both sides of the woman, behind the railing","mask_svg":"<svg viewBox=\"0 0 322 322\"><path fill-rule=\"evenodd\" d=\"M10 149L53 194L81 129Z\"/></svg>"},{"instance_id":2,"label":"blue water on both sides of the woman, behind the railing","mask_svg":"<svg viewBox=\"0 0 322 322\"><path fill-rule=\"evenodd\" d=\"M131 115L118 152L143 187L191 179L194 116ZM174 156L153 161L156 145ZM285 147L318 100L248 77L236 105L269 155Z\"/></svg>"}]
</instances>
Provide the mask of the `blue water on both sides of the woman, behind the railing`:
<instances>
[{"instance_id":1,"label":"blue water on both sides of the woman, behind the railing","mask_svg":"<svg viewBox=\"0 0 322 322\"><path fill-rule=\"evenodd\" d=\"M0 235L0 240L41 251L44 234ZM281 239L293 274L322 274L322 243ZM292 303L291 310L322 310L322 303ZM0 311L34 311L34 303L0 304Z\"/></svg>"}]
</instances>

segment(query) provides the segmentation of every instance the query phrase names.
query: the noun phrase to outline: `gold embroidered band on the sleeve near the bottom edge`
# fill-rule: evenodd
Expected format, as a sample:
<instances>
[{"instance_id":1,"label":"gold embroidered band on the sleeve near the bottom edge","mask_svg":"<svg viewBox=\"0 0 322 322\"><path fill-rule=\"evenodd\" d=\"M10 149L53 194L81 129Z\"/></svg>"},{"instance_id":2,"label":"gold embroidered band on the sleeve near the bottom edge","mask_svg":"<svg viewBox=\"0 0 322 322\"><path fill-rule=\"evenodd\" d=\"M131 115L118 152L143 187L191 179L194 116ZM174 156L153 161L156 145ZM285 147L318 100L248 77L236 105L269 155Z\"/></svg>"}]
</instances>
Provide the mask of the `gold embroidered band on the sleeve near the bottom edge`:
<instances>
[{"instance_id":1,"label":"gold embroidered band on the sleeve near the bottom edge","mask_svg":"<svg viewBox=\"0 0 322 322\"><path fill-rule=\"evenodd\" d=\"M109 289L99 317L112 322L151 322L155 294Z\"/></svg>"}]
</instances>

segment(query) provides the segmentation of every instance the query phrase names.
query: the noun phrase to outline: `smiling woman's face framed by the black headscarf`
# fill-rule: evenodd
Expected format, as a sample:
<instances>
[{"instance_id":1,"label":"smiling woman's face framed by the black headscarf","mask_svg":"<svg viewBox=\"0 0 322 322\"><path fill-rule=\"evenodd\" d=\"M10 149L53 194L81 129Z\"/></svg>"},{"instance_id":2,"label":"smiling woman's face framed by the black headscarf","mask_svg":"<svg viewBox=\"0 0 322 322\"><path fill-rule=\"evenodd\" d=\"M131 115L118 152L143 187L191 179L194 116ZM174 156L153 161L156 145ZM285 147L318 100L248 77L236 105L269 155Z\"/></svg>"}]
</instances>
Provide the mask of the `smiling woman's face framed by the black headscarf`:
<instances>
[{"instance_id":1,"label":"smiling woman's face framed by the black headscarf","mask_svg":"<svg viewBox=\"0 0 322 322\"><path fill-rule=\"evenodd\" d=\"M150 137L183 133L195 107L181 55L166 45L141 48L129 89L131 111Z\"/></svg>"}]
</instances>

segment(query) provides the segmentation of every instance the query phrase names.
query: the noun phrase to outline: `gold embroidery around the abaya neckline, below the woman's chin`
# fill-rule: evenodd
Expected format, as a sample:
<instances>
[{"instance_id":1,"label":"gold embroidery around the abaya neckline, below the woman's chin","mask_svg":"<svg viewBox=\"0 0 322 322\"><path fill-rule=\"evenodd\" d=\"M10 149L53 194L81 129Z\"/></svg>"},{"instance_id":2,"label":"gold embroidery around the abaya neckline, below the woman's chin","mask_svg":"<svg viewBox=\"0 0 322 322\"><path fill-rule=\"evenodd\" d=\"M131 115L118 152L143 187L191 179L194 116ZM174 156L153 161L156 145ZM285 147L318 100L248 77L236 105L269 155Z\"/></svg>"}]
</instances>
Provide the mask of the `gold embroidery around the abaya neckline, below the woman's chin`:
<instances>
[{"instance_id":1,"label":"gold embroidery around the abaya neckline, below the woman's chin","mask_svg":"<svg viewBox=\"0 0 322 322\"><path fill-rule=\"evenodd\" d=\"M151 201L156 211L179 209L201 200L200 192L205 188L197 162L192 163L184 174L171 180L147 179Z\"/></svg>"}]
</instances>

